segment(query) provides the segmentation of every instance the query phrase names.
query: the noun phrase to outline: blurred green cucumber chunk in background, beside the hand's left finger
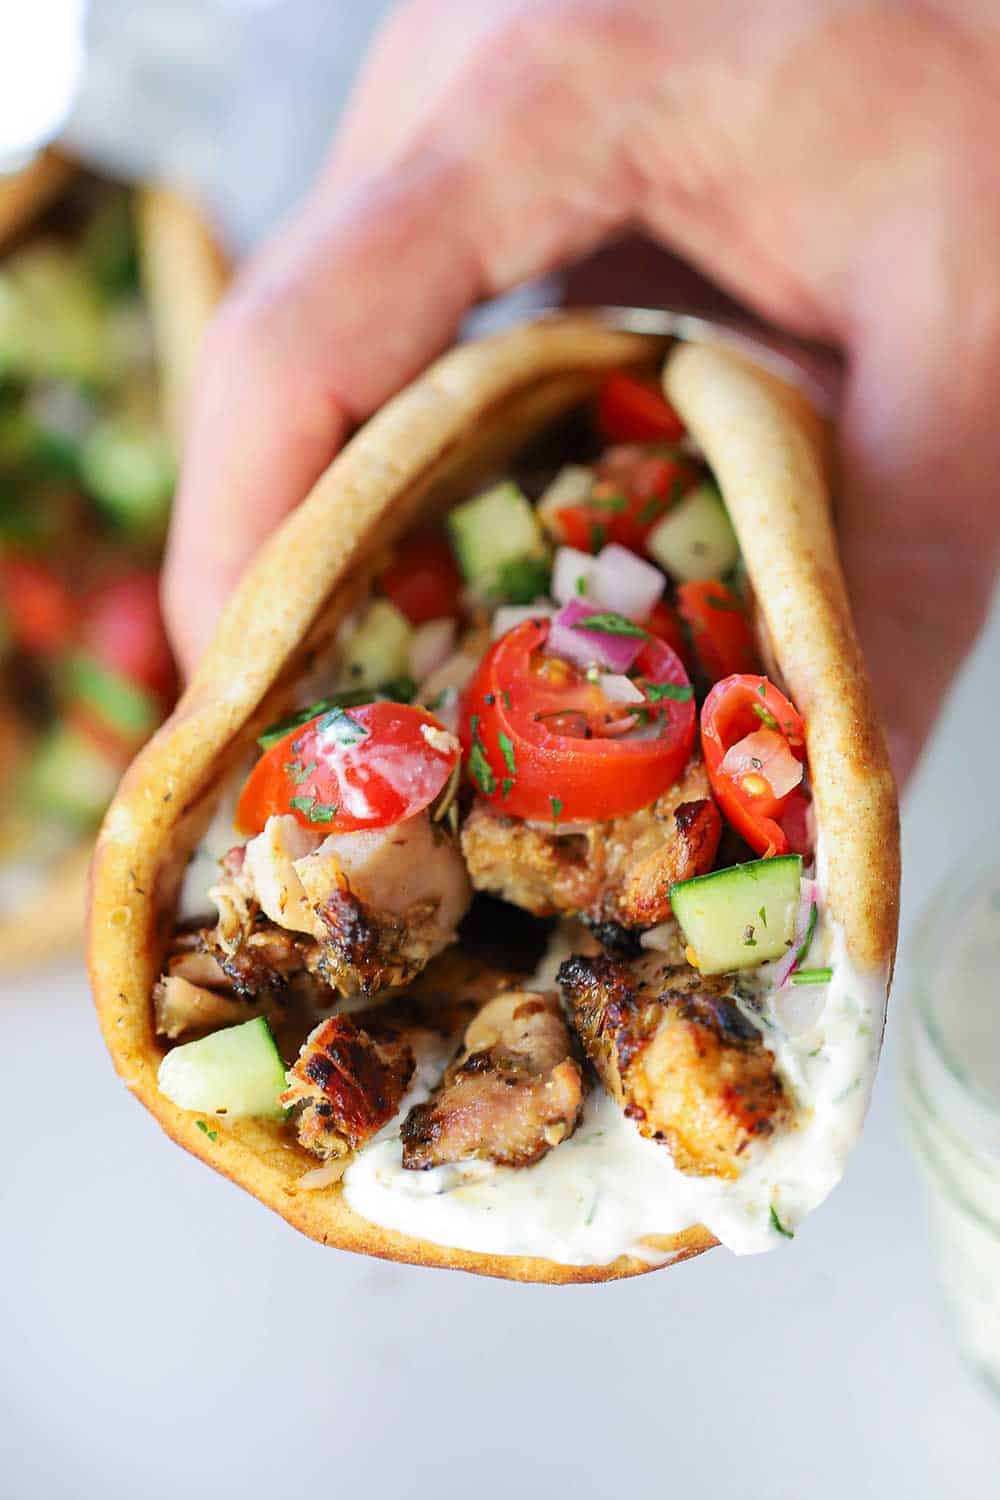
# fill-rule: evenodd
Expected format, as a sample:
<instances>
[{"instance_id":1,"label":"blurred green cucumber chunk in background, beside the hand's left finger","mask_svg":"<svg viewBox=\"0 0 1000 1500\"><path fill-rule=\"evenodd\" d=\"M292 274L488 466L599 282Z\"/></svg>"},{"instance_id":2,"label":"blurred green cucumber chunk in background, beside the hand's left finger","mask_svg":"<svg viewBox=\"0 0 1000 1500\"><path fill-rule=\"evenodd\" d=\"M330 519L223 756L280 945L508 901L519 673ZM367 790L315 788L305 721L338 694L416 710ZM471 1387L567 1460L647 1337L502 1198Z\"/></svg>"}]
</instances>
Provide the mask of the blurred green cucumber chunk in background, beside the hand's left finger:
<instances>
[{"instance_id":1,"label":"blurred green cucumber chunk in background, beside the hand's left finger","mask_svg":"<svg viewBox=\"0 0 1000 1500\"><path fill-rule=\"evenodd\" d=\"M163 432L136 417L106 417L79 452L84 484L112 520L156 536L166 525L175 465Z\"/></svg>"}]
</instances>

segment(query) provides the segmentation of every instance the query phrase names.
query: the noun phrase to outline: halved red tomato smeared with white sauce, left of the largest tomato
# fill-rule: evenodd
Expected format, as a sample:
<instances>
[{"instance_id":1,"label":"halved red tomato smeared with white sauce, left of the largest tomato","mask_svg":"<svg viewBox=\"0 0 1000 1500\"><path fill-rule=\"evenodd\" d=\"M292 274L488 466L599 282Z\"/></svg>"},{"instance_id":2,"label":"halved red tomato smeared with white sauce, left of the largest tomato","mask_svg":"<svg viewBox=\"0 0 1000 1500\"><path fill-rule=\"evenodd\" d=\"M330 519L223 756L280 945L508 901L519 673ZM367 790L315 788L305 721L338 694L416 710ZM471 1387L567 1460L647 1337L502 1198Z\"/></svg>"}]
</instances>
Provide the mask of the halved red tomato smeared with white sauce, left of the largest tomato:
<instances>
[{"instance_id":1,"label":"halved red tomato smeared with white sauce, left of the largest tomato","mask_svg":"<svg viewBox=\"0 0 1000 1500\"><path fill-rule=\"evenodd\" d=\"M268 818L291 813L316 832L388 828L429 807L457 764L457 740L423 708L331 708L261 756L237 826L258 834Z\"/></svg>"}]
</instances>

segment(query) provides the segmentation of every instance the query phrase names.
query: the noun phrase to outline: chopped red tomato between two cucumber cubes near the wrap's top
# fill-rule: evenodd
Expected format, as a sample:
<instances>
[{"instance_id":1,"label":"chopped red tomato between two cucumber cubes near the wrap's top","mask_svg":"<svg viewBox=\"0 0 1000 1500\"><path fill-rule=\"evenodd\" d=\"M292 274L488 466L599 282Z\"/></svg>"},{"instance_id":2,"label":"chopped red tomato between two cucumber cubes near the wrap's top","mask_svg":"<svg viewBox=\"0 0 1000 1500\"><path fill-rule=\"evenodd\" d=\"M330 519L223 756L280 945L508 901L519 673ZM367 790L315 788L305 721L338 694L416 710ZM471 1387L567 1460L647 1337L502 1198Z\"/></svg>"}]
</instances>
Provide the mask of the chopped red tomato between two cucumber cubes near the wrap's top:
<instances>
[{"instance_id":1,"label":"chopped red tomato between two cucumber cubes near the wrap's top","mask_svg":"<svg viewBox=\"0 0 1000 1500\"><path fill-rule=\"evenodd\" d=\"M636 444L609 448L594 466L591 495L556 512L561 538L582 552L618 542L642 554L660 518L697 480L697 468L681 453Z\"/></svg>"}]
</instances>

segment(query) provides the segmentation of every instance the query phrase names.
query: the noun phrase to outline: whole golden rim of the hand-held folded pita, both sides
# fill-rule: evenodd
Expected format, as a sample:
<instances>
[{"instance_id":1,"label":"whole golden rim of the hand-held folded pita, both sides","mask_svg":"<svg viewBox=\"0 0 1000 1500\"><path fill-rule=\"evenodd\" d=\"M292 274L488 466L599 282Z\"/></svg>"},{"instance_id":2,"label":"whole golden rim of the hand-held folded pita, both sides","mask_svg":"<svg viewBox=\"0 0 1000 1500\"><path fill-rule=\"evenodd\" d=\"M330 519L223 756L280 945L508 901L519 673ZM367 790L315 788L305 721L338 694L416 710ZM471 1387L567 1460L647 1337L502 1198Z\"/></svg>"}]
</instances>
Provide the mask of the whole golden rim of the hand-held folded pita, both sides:
<instances>
[{"instance_id":1,"label":"whole golden rim of the hand-held folded pita, both sides","mask_svg":"<svg viewBox=\"0 0 1000 1500\"><path fill-rule=\"evenodd\" d=\"M631 1254L579 1266L430 1244L360 1218L339 1186L301 1191L315 1158L280 1125L240 1119L208 1140L195 1116L157 1089L163 1048L150 992L184 864L226 772L292 702L295 681L363 597L385 546L414 518L469 494L604 370L661 357L661 342L577 315L460 346L435 363L354 436L264 546L174 716L130 766L105 819L88 957L115 1068L175 1142L322 1244L519 1281L604 1281L652 1269ZM720 350L675 346L666 381L726 495L768 652L807 718L826 902L852 963L874 975L882 1011L897 933L897 804L837 558L826 435L796 392ZM661 1263L676 1263L715 1239L691 1224L646 1244Z\"/></svg>"}]
</instances>

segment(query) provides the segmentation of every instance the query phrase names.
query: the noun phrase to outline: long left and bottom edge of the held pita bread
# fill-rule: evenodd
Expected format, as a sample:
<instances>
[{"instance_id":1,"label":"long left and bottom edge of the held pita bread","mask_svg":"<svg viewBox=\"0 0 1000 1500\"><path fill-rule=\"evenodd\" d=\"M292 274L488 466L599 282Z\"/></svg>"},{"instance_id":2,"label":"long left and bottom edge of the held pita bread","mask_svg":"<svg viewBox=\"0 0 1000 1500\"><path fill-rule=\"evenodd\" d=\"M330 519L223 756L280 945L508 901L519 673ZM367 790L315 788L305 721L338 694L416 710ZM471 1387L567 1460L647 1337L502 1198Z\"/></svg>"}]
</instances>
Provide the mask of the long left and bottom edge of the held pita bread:
<instances>
[{"instance_id":1,"label":"long left and bottom edge of the held pita bread","mask_svg":"<svg viewBox=\"0 0 1000 1500\"><path fill-rule=\"evenodd\" d=\"M210 1142L192 1114L159 1092L162 1048L150 992L213 789L283 710L289 684L328 648L337 622L364 596L379 554L417 514L484 471L486 458L502 462L580 399L601 370L660 352L657 340L565 316L438 360L355 435L264 546L172 718L132 765L105 819L91 870L88 958L115 1068L175 1142L321 1244L516 1281L607 1281L655 1269L637 1257L564 1266L451 1250L361 1220L339 1185L300 1191L297 1180L315 1161L285 1130L238 1120ZM811 429L802 428L801 441L819 453ZM810 502L826 508L822 484ZM654 1244L672 1264L717 1240L693 1226Z\"/></svg>"}]
</instances>

